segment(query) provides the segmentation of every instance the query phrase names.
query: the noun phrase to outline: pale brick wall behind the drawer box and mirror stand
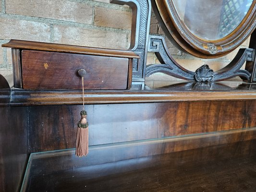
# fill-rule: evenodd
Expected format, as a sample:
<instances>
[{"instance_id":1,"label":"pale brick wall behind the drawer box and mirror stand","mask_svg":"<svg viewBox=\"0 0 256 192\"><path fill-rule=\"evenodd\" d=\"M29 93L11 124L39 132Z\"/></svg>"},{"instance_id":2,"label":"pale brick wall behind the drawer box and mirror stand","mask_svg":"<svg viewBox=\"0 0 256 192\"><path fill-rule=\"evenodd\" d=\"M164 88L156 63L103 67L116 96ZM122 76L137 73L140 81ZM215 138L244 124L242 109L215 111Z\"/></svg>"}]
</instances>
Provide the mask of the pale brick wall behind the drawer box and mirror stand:
<instances>
[{"instance_id":1,"label":"pale brick wall behind the drawer box and mirror stand","mask_svg":"<svg viewBox=\"0 0 256 192\"><path fill-rule=\"evenodd\" d=\"M0 44L21 39L89 47L127 49L130 45L132 12L109 0L0 0ZM150 33L163 35L152 13ZM243 45L246 46L248 41ZM195 71L203 64L217 70L234 53L216 60L201 60L182 53L167 40L173 57ZM148 63L158 63L148 54ZM0 48L0 74L12 74L10 48ZM166 78L155 74L152 77ZM173 78L170 78L173 80Z\"/></svg>"}]
</instances>

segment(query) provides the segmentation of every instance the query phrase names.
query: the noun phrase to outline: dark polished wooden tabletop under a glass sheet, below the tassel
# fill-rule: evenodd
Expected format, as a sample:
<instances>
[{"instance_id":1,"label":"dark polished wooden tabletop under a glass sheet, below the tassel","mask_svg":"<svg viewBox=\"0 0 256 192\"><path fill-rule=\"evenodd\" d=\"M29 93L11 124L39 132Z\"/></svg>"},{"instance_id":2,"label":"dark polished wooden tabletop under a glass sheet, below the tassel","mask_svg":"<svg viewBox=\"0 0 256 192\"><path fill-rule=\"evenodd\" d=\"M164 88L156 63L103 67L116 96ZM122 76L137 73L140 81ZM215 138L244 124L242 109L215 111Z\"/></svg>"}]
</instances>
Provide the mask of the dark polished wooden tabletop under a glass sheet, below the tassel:
<instances>
[{"instance_id":1,"label":"dark polished wooden tabletop under a glass sheet, below the tassel","mask_svg":"<svg viewBox=\"0 0 256 192\"><path fill-rule=\"evenodd\" d=\"M211 138L212 141L222 139L221 136ZM85 161L75 157L73 150L33 154L26 175L29 183L26 191L216 192L227 189L227 192L254 192L256 140L192 150L183 148L174 153L166 150L173 148L171 143L153 141L147 147L96 146Z\"/></svg>"}]
</instances>

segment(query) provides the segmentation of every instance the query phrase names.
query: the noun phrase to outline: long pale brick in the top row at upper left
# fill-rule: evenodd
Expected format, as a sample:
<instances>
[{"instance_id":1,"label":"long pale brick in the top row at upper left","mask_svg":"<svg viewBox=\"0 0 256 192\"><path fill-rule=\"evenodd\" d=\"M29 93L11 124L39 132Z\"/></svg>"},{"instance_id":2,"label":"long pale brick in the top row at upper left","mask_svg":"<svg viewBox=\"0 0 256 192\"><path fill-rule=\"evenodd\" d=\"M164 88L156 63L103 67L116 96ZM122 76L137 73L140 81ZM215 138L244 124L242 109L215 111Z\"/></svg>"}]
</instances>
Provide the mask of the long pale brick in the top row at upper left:
<instances>
[{"instance_id":1,"label":"long pale brick in the top row at upper left","mask_svg":"<svg viewBox=\"0 0 256 192\"><path fill-rule=\"evenodd\" d=\"M6 13L92 23L92 6L68 0L6 0Z\"/></svg>"}]
</instances>

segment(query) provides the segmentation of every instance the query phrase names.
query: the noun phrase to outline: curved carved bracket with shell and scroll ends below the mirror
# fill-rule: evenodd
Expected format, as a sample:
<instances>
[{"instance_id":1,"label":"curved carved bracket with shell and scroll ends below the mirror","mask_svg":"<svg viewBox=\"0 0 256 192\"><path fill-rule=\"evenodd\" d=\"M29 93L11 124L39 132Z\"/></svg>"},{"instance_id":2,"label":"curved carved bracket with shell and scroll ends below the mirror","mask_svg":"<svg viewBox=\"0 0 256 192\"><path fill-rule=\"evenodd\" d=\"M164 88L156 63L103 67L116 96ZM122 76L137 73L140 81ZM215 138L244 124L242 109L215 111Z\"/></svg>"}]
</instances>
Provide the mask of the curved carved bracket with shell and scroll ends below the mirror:
<instances>
[{"instance_id":1,"label":"curved carved bracket with shell and scroll ends below the mirror","mask_svg":"<svg viewBox=\"0 0 256 192\"><path fill-rule=\"evenodd\" d=\"M241 70L241 67L245 61L255 60L255 49L241 48L235 58L226 67L217 72L213 72L207 65L203 65L195 72L192 72L184 69L171 57L162 36L149 36L148 51L155 52L161 64L148 65L146 67L146 76L155 72L163 72L177 78L196 82L217 82L235 76L249 80L251 73Z\"/></svg>"}]
</instances>

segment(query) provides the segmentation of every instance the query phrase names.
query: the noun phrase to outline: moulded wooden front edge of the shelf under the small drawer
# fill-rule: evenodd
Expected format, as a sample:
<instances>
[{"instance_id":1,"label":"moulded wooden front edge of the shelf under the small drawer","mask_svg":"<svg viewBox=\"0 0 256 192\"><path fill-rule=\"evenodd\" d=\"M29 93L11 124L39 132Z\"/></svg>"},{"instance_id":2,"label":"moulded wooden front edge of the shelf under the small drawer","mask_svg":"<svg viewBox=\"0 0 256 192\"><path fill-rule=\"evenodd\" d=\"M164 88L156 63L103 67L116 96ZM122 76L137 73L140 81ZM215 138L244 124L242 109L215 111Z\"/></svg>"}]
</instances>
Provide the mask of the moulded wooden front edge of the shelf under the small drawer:
<instances>
[{"instance_id":1,"label":"moulded wooden front edge of the shelf under the small drawer","mask_svg":"<svg viewBox=\"0 0 256 192\"><path fill-rule=\"evenodd\" d=\"M151 103L256 99L255 90L233 91L86 91L85 104ZM30 91L13 89L11 106L82 104L82 91Z\"/></svg>"}]
</instances>

